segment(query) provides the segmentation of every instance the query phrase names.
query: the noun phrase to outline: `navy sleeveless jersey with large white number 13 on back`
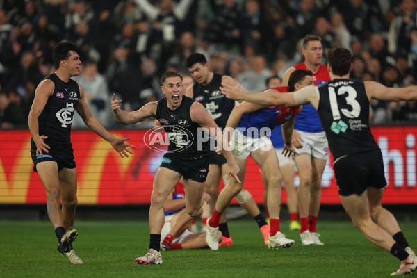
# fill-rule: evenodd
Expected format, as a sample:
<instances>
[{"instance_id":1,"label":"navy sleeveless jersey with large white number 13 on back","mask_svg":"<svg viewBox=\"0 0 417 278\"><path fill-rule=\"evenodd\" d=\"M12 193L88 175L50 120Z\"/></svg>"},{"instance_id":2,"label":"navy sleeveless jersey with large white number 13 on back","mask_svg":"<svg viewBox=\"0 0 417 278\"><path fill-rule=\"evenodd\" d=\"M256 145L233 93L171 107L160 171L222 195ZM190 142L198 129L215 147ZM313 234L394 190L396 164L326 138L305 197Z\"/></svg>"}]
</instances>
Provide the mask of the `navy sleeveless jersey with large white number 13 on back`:
<instances>
[{"instance_id":1,"label":"navy sleeveless jersey with large white number 13 on back","mask_svg":"<svg viewBox=\"0 0 417 278\"><path fill-rule=\"evenodd\" d=\"M318 91L317 111L335 161L379 149L369 129L369 100L363 82L334 79Z\"/></svg>"}]
</instances>

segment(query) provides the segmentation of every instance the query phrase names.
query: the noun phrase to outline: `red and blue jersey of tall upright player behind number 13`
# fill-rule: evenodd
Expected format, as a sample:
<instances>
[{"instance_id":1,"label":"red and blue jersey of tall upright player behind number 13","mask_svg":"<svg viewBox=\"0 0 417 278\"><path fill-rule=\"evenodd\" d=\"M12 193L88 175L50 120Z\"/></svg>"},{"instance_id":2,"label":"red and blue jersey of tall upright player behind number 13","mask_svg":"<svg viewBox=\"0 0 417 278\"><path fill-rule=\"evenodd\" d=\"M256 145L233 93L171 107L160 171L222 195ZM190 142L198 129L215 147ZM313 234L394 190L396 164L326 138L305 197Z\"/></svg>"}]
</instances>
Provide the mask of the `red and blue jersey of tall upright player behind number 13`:
<instances>
[{"instance_id":1,"label":"red and blue jersey of tall upright player behind number 13","mask_svg":"<svg viewBox=\"0 0 417 278\"><path fill-rule=\"evenodd\" d=\"M306 67L306 63L300 63L294 66L295 70L309 70ZM313 74L314 85L320 86L323 83L326 83L330 80L329 72L327 72L327 67L325 65L320 65L318 71ZM318 117L316 108L311 104L306 104L302 106L302 111L297 115L295 119L294 129L305 131L309 133L318 133L324 131Z\"/></svg>"}]
</instances>

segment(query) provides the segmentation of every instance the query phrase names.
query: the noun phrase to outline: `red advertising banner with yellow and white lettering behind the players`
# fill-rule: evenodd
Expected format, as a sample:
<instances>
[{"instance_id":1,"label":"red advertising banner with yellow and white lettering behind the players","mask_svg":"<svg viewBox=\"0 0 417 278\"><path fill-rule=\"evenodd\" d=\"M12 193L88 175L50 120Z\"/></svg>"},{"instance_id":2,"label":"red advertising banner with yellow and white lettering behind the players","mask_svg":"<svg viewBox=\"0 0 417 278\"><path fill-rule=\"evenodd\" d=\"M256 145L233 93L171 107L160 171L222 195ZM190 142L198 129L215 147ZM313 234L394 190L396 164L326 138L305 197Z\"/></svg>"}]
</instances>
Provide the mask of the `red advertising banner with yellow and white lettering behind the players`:
<instances>
[{"instance_id":1,"label":"red advertising banner with yellow and white lettering behind the players","mask_svg":"<svg viewBox=\"0 0 417 278\"><path fill-rule=\"evenodd\" d=\"M374 127L372 131L382 149L388 181L382 201L417 204L417 126ZM79 204L149 204L154 173L163 156L163 152L155 149L166 146L149 148L144 142L146 132L145 129L111 131L117 137L131 137L129 142L136 146L133 156L120 158L111 145L92 131L72 131ZM46 203L42 183L33 172L30 138L28 130L0 131L0 204ZM330 158L322 178L322 204L340 204L332 161ZM297 177L295 183L299 183ZM247 161L244 187L257 203L263 203L261 175L251 158ZM282 193L285 204L285 190Z\"/></svg>"}]
</instances>

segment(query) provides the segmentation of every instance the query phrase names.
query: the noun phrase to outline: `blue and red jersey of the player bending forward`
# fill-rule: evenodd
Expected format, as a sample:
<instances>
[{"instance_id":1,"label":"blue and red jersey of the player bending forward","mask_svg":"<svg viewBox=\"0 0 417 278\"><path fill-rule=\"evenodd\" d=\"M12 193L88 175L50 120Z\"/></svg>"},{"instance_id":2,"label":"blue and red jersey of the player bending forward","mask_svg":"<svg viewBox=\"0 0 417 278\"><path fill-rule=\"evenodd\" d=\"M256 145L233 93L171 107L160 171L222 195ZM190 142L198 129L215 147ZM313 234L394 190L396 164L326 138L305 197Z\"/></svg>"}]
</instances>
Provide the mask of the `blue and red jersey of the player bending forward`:
<instances>
[{"instance_id":1,"label":"blue and red jersey of the player bending forward","mask_svg":"<svg viewBox=\"0 0 417 278\"><path fill-rule=\"evenodd\" d=\"M275 87L273 89L280 93L288 92L288 88L286 87ZM270 131L274 129L275 126L280 126L281 124L284 124L284 122L295 117L298 109L300 109L300 106L275 106L273 108L263 108L251 113L245 113L240 118L236 129L241 131L245 136L250 136L252 138L270 135ZM263 131L269 130L269 132L266 132L265 134L261 129L263 129Z\"/></svg>"}]
</instances>

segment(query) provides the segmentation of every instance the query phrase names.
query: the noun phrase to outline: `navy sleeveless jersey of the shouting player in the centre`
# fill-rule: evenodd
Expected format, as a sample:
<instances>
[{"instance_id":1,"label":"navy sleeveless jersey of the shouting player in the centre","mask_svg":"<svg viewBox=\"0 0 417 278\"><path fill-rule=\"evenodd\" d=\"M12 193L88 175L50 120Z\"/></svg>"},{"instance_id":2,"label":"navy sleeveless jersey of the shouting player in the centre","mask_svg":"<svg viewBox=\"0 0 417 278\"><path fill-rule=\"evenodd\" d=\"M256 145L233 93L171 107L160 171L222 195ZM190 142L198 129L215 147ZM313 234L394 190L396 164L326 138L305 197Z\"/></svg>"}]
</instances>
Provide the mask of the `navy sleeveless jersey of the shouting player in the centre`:
<instances>
[{"instance_id":1,"label":"navy sleeveless jersey of the shouting player in the centre","mask_svg":"<svg viewBox=\"0 0 417 278\"><path fill-rule=\"evenodd\" d=\"M200 142L202 130L199 124L193 122L190 117L190 108L194 100L182 96L180 106L171 110L167 107L167 99L164 97L158 101L156 119L161 123L170 140L169 153L179 153L181 157L206 157L208 156L208 140Z\"/></svg>"}]
</instances>

